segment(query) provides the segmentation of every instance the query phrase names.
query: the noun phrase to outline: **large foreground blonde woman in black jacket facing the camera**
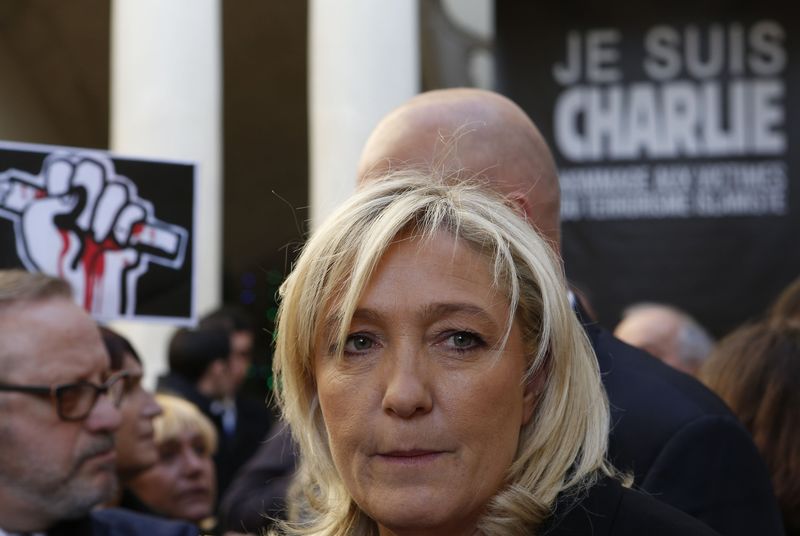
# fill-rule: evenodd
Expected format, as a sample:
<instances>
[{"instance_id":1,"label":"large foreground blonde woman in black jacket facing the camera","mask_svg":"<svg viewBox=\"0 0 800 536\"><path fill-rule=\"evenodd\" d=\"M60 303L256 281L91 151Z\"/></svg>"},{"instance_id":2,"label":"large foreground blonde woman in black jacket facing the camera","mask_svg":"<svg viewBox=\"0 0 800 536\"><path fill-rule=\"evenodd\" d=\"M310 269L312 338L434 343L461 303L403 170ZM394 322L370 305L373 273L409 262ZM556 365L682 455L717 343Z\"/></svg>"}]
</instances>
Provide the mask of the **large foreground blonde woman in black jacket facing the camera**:
<instances>
[{"instance_id":1,"label":"large foreground blonde woman in black jacket facing the camera","mask_svg":"<svg viewBox=\"0 0 800 536\"><path fill-rule=\"evenodd\" d=\"M311 237L274 360L301 458L287 533L713 534L606 464L596 359L519 214L407 173Z\"/></svg>"}]
</instances>

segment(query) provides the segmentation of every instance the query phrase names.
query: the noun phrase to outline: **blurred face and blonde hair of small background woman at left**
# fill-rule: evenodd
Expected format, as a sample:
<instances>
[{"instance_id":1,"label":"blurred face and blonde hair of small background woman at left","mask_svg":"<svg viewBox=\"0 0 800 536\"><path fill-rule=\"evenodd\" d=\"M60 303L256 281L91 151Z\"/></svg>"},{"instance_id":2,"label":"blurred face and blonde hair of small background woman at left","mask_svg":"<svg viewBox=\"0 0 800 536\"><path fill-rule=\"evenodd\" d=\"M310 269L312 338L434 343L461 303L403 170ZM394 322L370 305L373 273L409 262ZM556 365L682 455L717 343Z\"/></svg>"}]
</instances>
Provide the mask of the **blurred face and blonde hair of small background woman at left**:
<instances>
[{"instance_id":1,"label":"blurred face and blonde hair of small background woman at left","mask_svg":"<svg viewBox=\"0 0 800 536\"><path fill-rule=\"evenodd\" d=\"M194 404L164 394L156 400L163 409L154 422L158 461L131 479L130 490L151 512L210 530L217 432Z\"/></svg>"}]
</instances>

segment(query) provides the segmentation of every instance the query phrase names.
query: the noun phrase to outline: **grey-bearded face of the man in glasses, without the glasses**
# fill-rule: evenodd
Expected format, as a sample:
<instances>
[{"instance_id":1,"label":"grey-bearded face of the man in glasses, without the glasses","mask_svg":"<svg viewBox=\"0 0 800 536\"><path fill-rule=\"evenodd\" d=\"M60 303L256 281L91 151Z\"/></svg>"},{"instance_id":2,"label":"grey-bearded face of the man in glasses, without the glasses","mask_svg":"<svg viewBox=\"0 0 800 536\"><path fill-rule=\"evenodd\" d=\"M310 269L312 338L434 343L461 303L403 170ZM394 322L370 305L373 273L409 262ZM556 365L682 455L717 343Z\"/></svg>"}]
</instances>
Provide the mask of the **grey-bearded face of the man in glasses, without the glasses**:
<instances>
[{"instance_id":1,"label":"grey-bearded face of the man in glasses, without the glasses","mask_svg":"<svg viewBox=\"0 0 800 536\"><path fill-rule=\"evenodd\" d=\"M107 379L108 355L96 324L65 298L3 308L0 338L2 383ZM107 395L96 399L84 419L65 421L47 395L0 392L2 528L43 530L110 499L117 478L113 432L119 425L120 412Z\"/></svg>"}]
</instances>

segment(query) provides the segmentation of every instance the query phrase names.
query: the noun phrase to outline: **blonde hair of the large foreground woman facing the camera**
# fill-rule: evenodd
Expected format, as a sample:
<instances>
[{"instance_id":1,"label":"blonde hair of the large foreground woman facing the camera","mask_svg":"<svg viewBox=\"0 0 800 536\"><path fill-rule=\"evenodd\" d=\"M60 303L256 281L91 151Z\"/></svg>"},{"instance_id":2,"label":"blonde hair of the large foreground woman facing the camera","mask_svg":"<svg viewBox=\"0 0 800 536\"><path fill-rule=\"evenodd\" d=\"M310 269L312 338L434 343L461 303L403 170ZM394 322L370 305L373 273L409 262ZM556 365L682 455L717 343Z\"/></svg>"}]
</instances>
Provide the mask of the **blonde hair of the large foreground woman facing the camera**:
<instances>
[{"instance_id":1,"label":"blonde hair of the large foreground woman facing the camera","mask_svg":"<svg viewBox=\"0 0 800 536\"><path fill-rule=\"evenodd\" d=\"M609 414L597 361L567 298L560 261L516 206L485 184L396 173L359 190L311 237L281 287L274 373L278 403L299 444L302 522L294 534L377 534L334 467L314 378L315 343L329 333L341 352L359 298L401 236L447 232L483 255L509 301L528 351L521 382L545 377L507 485L480 521L485 534L530 534L560 493L579 494L604 464ZM326 339L327 341L327 339ZM327 342L326 342L327 344ZM327 348L326 348L327 350Z\"/></svg>"}]
</instances>

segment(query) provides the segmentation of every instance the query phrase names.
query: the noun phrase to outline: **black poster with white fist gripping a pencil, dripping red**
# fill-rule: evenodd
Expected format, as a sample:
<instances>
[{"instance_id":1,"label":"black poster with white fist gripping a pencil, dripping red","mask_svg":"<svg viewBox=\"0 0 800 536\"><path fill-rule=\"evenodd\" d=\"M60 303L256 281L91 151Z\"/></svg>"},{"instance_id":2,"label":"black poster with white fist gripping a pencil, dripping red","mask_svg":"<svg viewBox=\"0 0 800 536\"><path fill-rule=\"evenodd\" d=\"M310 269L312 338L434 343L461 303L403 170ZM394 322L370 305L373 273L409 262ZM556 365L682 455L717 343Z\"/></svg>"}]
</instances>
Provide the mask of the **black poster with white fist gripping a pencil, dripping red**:
<instances>
[{"instance_id":1,"label":"black poster with white fist gripping a pencil, dripping red","mask_svg":"<svg viewBox=\"0 0 800 536\"><path fill-rule=\"evenodd\" d=\"M195 165L0 143L0 269L67 280L98 320L191 323Z\"/></svg>"}]
</instances>

